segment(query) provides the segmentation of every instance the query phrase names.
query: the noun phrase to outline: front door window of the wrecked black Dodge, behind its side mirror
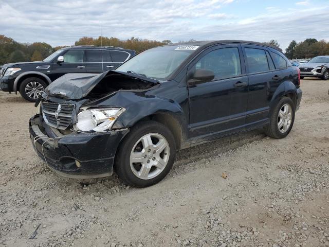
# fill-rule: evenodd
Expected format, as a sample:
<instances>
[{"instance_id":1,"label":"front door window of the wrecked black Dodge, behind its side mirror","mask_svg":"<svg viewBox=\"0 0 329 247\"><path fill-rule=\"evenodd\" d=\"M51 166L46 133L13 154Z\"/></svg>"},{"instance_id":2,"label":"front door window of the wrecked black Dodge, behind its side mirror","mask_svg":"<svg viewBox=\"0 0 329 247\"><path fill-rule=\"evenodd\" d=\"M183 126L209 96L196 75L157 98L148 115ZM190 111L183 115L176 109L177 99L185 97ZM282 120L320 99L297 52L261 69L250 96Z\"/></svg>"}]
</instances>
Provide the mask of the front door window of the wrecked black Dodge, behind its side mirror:
<instances>
[{"instance_id":1,"label":"front door window of the wrecked black Dodge, behind its side mirror","mask_svg":"<svg viewBox=\"0 0 329 247\"><path fill-rule=\"evenodd\" d=\"M195 64L194 68L212 70L215 79L241 75L239 50L232 47L210 51Z\"/></svg>"}]
</instances>

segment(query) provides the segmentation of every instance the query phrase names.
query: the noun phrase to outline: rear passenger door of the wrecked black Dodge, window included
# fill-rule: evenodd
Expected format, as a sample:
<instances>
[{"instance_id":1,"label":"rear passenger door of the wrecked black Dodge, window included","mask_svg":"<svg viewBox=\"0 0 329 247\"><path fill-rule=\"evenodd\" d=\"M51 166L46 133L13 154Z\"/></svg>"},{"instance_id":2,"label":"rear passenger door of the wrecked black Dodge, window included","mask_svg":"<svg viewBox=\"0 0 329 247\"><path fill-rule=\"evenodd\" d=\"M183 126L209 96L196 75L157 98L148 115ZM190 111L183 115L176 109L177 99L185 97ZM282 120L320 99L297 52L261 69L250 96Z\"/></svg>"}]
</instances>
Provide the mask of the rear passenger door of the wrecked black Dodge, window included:
<instances>
[{"instance_id":1,"label":"rear passenger door of the wrecked black Dodge, window included","mask_svg":"<svg viewBox=\"0 0 329 247\"><path fill-rule=\"evenodd\" d=\"M275 66L264 46L242 45L249 78L246 128L262 125L268 120L271 93L280 84L273 71Z\"/></svg>"}]
</instances>

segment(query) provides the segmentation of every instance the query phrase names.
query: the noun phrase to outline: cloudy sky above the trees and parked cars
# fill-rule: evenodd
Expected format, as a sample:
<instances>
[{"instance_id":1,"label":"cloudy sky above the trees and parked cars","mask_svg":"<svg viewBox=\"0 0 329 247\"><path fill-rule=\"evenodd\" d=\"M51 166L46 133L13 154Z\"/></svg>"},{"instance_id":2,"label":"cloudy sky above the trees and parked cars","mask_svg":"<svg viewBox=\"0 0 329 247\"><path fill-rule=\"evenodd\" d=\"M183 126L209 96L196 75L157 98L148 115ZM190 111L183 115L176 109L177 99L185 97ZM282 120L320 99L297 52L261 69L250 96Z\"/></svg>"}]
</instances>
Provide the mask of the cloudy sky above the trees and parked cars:
<instances>
[{"instance_id":1,"label":"cloudy sky above the trees and parked cars","mask_svg":"<svg viewBox=\"0 0 329 247\"><path fill-rule=\"evenodd\" d=\"M72 45L83 36L329 41L328 0L0 0L0 34Z\"/></svg>"}]
</instances>

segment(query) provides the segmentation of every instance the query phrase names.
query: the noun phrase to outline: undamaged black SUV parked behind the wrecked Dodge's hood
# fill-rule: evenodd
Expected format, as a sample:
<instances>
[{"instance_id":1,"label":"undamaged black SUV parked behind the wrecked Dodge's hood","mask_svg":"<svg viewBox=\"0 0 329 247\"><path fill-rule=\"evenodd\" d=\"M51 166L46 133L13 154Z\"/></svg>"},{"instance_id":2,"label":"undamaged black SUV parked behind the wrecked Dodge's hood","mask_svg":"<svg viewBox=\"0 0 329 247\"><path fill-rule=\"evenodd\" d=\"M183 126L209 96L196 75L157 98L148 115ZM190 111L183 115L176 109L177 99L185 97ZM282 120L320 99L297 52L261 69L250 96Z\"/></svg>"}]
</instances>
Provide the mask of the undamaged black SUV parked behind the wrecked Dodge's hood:
<instances>
[{"instance_id":1,"label":"undamaged black SUV parked behind the wrecked Dodge's hood","mask_svg":"<svg viewBox=\"0 0 329 247\"><path fill-rule=\"evenodd\" d=\"M42 62L4 64L0 90L20 92L35 102L48 84L67 73L103 73L135 56L134 50L112 46L72 46L55 51Z\"/></svg>"}]
</instances>

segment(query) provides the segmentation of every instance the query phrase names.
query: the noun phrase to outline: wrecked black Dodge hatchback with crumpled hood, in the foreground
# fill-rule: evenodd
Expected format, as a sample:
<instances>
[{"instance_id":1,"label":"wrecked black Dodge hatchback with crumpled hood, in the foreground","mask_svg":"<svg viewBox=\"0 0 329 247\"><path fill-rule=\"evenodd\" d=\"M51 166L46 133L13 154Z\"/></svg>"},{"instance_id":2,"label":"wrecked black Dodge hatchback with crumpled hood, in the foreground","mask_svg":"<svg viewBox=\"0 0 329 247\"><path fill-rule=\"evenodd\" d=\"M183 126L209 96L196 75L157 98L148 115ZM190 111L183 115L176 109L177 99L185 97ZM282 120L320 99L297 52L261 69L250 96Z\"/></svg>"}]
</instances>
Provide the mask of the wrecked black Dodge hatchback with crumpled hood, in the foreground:
<instances>
[{"instance_id":1,"label":"wrecked black Dodge hatchback with crumpled hood, in the foreground","mask_svg":"<svg viewBox=\"0 0 329 247\"><path fill-rule=\"evenodd\" d=\"M300 70L279 48L249 41L156 47L100 75L51 83L30 119L33 147L70 178L150 186L176 150L264 128L283 138L294 124Z\"/></svg>"}]
</instances>

